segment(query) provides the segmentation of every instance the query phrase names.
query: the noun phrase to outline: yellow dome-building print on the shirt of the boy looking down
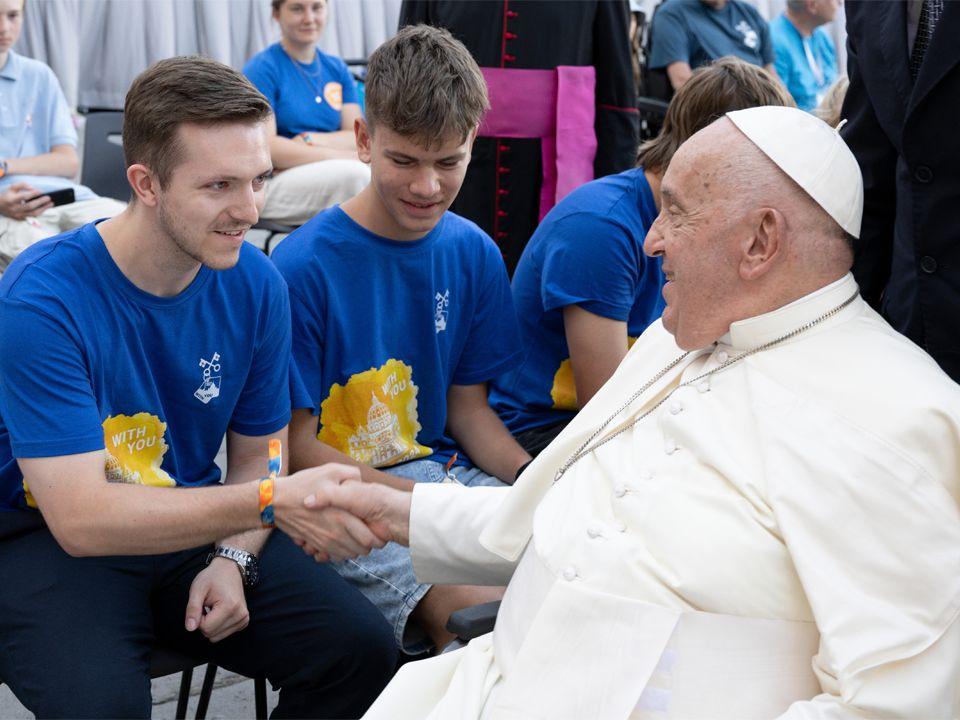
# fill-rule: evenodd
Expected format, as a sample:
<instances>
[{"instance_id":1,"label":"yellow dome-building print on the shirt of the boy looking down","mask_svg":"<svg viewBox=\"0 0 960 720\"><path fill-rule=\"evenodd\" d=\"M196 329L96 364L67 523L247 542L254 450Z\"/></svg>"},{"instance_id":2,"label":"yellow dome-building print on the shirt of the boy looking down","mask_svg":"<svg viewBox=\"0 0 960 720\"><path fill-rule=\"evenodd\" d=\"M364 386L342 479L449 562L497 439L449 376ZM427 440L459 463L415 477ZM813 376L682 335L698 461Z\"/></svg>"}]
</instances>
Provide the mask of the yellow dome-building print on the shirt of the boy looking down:
<instances>
[{"instance_id":1,"label":"yellow dome-building print on the shirt of the boy looking down","mask_svg":"<svg viewBox=\"0 0 960 720\"><path fill-rule=\"evenodd\" d=\"M400 360L351 375L346 385L334 383L320 404L317 438L373 467L429 455L418 432L417 386L413 370Z\"/></svg>"}]
</instances>

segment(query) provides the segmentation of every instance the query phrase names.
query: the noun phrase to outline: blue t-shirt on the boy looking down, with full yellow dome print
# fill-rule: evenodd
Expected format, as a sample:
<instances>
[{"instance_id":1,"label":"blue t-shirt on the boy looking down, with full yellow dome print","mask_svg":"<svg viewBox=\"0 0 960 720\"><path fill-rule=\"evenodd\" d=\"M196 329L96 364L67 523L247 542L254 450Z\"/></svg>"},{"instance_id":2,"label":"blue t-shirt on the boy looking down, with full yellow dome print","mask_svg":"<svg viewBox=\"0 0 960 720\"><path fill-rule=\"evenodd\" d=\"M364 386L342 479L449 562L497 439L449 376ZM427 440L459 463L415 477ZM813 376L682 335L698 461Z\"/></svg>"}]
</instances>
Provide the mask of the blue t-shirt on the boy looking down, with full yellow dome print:
<instances>
[{"instance_id":1,"label":"blue t-shirt on the boy looking down, with full yellow dome print","mask_svg":"<svg viewBox=\"0 0 960 720\"><path fill-rule=\"evenodd\" d=\"M293 357L308 395L294 407L320 415L317 437L375 467L449 459L450 385L486 382L519 359L493 241L450 212L419 240L390 240L333 207L273 259L290 288Z\"/></svg>"}]
</instances>

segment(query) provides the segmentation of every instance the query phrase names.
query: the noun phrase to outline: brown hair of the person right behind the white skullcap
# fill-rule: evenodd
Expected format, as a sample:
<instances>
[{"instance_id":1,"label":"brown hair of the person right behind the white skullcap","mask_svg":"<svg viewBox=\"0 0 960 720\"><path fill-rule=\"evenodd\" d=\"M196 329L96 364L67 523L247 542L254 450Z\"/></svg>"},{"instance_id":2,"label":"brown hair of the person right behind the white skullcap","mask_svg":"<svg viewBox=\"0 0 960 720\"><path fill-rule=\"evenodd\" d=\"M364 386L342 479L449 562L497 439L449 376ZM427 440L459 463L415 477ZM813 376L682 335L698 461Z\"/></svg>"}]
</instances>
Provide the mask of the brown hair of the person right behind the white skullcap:
<instances>
[{"instance_id":1,"label":"brown hair of the person right behind the white skullcap","mask_svg":"<svg viewBox=\"0 0 960 720\"><path fill-rule=\"evenodd\" d=\"M660 134L640 146L637 165L662 173L691 135L732 110L761 105L796 107L777 78L739 58L722 57L697 68L670 101Z\"/></svg>"}]
</instances>

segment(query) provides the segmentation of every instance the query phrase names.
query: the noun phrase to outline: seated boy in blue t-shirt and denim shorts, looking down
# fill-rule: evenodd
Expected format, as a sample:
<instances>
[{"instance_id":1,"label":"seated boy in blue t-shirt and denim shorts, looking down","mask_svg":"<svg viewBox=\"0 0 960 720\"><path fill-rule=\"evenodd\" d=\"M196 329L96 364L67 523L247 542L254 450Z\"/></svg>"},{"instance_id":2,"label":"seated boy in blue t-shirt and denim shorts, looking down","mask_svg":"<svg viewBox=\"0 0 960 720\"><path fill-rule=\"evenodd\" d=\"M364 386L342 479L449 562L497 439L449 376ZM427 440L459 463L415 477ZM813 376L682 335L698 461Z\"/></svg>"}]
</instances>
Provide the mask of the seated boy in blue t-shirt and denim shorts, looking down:
<instances>
[{"instance_id":1,"label":"seated boy in blue t-shirt and denim shorts, looking down","mask_svg":"<svg viewBox=\"0 0 960 720\"><path fill-rule=\"evenodd\" d=\"M357 147L370 185L273 256L290 287L306 393L291 463L349 461L364 479L404 489L512 482L530 458L486 388L519 355L506 270L483 231L447 212L487 108L483 76L446 30L407 27L371 56L366 102ZM396 544L340 569L408 652L442 647L450 612L500 594L417 584Z\"/></svg>"}]
</instances>

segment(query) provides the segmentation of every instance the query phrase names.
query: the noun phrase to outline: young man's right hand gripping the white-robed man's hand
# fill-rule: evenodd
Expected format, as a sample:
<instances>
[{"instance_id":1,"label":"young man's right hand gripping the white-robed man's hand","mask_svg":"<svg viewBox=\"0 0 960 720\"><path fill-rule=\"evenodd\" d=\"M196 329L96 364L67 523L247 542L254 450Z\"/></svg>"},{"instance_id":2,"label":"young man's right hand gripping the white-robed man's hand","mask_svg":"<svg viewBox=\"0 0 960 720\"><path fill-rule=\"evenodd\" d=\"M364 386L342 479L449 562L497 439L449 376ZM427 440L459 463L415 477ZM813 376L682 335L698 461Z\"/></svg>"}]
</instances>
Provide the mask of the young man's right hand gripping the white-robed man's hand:
<instances>
[{"instance_id":1,"label":"young man's right hand gripping the white-robed man's hand","mask_svg":"<svg viewBox=\"0 0 960 720\"><path fill-rule=\"evenodd\" d=\"M359 479L357 468L336 463L278 479L273 498L277 527L301 547L315 549L310 554L321 561L346 560L383 547L385 541L362 520L327 500L340 483Z\"/></svg>"}]
</instances>

